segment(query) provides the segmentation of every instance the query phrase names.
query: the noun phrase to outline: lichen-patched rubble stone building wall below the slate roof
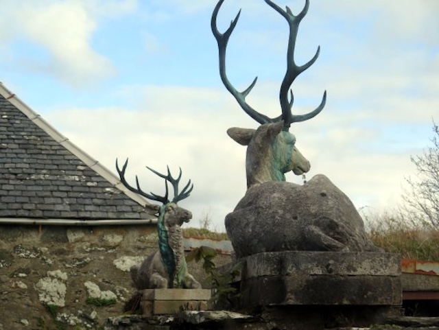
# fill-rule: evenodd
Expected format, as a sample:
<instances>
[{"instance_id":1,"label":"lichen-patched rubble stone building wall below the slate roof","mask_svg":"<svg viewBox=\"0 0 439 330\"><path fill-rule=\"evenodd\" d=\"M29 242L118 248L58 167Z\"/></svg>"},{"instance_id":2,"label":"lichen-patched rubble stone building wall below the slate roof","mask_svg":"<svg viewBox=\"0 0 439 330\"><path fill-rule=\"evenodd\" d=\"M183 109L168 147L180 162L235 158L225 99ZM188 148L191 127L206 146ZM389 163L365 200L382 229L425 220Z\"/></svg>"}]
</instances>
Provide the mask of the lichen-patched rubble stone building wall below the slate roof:
<instances>
[{"instance_id":1,"label":"lichen-patched rubble stone building wall below the slate roof","mask_svg":"<svg viewBox=\"0 0 439 330\"><path fill-rule=\"evenodd\" d=\"M156 248L152 225L0 226L0 330L104 329L135 293L130 267Z\"/></svg>"}]
</instances>

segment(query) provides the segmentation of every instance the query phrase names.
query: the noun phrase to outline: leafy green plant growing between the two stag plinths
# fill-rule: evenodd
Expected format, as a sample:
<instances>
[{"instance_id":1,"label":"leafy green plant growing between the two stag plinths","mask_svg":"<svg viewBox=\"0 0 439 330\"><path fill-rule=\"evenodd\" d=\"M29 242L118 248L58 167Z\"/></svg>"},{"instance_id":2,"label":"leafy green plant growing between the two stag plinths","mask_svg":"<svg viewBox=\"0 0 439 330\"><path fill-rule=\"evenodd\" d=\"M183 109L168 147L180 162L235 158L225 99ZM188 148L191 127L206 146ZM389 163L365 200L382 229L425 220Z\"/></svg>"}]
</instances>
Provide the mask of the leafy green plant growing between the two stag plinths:
<instances>
[{"instance_id":1,"label":"leafy green plant growing between the two stag plinths","mask_svg":"<svg viewBox=\"0 0 439 330\"><path fill-rule=\"evenodd\" d=\"M212 302L220 307L232 307L234 305L233 300L239 296L237 288L233 287L232 283L239 276L244 265L237 263L230 270L220 272L213 261L216 256L217 252L215 249L208 246L200 246L200 248L194 248L189 252L186 261L195 260L198 262L202 259L204 272L209 275L208 279L212 283Z\"/></svg>"}]
</instances>

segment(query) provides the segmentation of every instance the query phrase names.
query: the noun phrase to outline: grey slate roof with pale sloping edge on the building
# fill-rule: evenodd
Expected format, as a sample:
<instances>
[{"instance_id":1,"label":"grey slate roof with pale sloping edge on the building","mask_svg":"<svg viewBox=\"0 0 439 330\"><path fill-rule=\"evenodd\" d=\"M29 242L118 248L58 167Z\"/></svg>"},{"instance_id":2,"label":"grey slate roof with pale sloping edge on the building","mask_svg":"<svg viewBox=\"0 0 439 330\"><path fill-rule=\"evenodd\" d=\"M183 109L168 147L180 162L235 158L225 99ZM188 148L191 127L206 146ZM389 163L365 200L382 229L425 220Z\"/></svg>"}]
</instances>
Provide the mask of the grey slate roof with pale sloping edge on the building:
<instances>
[{"instance_id":1,"label":"grey slate roof with pale sloping edge on the building","mask_svg":"<svg viewBox=\"0 0 439 330\"><path fill-rule=\"evenodd\" d=\"M0 83L0 219L155 218L145 205Z\"/></svg>"}]
</instances>

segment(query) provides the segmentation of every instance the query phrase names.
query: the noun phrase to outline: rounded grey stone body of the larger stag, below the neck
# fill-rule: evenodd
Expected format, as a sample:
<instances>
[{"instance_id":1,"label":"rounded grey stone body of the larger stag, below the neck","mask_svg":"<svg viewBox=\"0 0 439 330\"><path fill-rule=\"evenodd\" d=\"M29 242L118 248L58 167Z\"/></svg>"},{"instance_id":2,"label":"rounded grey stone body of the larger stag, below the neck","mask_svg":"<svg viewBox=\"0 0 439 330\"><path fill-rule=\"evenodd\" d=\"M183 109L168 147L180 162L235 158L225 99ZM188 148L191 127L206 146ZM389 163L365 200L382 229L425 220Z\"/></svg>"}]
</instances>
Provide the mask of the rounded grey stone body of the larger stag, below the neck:
<instances>
[{"instance_id":1,"label":"rounded grey stone body of the larger stag, below the neck","mask_svg":"<svg viewBox=\"0 0 439 330\"><path fill-rule=\"evenodd\" d=\"M304 185L265 182L226 216L238 258L287 250L381 252L349 198L324 175Z\"/></svg>"}]
</instances>

